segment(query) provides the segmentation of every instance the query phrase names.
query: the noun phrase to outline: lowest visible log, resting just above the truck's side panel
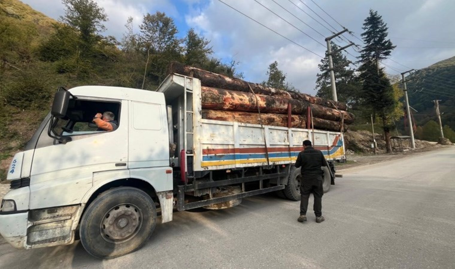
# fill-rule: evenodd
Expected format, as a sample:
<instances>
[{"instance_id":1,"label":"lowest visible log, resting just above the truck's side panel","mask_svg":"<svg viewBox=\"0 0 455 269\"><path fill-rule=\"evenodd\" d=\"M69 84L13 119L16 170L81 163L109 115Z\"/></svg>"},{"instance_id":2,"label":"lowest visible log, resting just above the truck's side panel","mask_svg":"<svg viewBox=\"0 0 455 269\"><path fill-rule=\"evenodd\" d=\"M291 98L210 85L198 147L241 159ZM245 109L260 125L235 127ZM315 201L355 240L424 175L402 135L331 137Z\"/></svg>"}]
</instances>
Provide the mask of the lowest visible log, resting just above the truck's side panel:
<instances>
[{"instance_id":1,"label":"lowest visible log, resting just above the truck's side panel","mask_svg":"<svg viewBox=\"0 0 455 269\"><path fill-rule=\"evenodd\" d=\"M288 126L288 115L276 114L276 113L261 113L259 117L258 113L241 112L241 111L223 111L223 110L202 110L202 119L207 120L222 120L248 124L262 124L287 127ZM306 116L303 115L292 115L291 116L291 128L306 129ZM341 130L341 123L332 120L323 120L319 118L313 118L314 129L317 130L328 130L339 132ZM308 126L311 129L311 126ZM347 130L344 125L344 130Z\"/></svg>"}]
</instances>

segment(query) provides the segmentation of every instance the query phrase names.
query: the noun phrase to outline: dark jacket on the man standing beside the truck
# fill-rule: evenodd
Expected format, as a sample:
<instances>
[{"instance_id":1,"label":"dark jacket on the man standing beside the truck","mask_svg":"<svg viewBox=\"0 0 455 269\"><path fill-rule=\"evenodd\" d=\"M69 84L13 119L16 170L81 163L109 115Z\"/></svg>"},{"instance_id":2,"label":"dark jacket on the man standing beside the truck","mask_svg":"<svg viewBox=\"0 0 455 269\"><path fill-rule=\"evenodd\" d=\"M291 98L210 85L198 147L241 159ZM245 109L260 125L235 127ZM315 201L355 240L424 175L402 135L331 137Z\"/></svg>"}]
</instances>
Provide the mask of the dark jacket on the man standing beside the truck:
<instances>
[{"instance_id":1,"label":"dark jacket on the man standing beside the truck","mask_svg":"<svg viewBox=\"0 0 455 269\"><path fill-rule=\"evenodd\" d=\"M300 173L302 175L322 175L322 166L327 166L327 161L324 158L324 154L319 149L314 149L311 146L300 151L295 161L295 167L302 167Z\"/></svg>"}]
</instances>

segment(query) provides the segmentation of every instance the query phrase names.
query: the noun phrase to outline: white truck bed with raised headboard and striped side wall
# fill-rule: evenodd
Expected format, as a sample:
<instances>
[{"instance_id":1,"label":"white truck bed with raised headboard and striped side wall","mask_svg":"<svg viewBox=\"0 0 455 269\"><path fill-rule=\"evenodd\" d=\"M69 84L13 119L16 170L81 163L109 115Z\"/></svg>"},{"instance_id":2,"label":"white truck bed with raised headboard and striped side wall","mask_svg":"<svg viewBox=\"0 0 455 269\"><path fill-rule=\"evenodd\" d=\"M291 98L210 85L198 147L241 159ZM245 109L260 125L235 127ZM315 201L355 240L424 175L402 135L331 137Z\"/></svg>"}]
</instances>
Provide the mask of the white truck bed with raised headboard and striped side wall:
<instances>
[{"instance_id":1,"label":"white truck bed with raised headboard and striped side wall","mask_svg":"<svg viewBox=\"0 0 455 269\"><path fill-rule=\"evenodd\" d=\"M167 103L174 102L173 110L179 110L180 116L174 117L179 130L177 149L193 154L193 171L294 163L306 139L326 159L345 159L341 132L202 119L201 84L197 79L172 74L158 91L164 93Z\"/></svg>"}]
</instances>

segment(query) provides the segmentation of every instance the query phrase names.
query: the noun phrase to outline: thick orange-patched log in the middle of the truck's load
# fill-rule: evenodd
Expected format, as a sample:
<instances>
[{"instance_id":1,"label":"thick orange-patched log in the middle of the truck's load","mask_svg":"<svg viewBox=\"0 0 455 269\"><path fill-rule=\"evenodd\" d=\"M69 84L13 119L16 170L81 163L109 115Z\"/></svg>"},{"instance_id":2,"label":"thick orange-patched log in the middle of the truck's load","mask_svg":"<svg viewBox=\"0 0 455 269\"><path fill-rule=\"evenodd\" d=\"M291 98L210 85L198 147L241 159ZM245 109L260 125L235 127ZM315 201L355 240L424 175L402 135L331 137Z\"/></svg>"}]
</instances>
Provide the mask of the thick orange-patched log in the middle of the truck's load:
<instances>
[{"instance_id":1,"label":"thick orange-patched log in the middle of the truck's load","mask_svg":"<svg viewBox=\"0 0 455 269\"><path fill-rule=\"evenodd\" d=\"M310 103L306 101L202 86L202 109L258 112L259 107L263 113L287 114L289 103L292 114L307 114ZM341 121L342 115L344 115L344 123L354 122L354 115L344 110L335 110L315 104L311 105L311 109L313 116L317 118Z\"/></svg>"}]
</instances>

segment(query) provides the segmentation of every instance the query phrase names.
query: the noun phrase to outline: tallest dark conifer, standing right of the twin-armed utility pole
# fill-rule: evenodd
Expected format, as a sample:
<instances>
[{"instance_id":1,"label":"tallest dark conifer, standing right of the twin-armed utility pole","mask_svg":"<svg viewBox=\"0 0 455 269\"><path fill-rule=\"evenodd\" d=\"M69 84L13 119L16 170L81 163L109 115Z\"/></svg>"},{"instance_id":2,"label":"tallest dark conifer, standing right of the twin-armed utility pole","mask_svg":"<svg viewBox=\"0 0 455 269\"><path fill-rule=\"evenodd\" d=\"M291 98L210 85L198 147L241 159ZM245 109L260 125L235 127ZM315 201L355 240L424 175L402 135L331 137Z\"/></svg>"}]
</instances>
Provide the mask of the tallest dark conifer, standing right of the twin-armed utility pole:
<instances>
[{"instance_id":1,"label":"tallest dark conifer, standing right of the twin-armed utility pole","mask_svg":"<svg viewBox=\"0 0 455 269\"><path fill-rule=\"evenodd\" d=\"M374 119L379 117L382 121L386 149L387 152L391 152L390 130L393 128L391 122L399 100L394 95L390 80L385 75L383 68L380 68L379 62L386 59L395 46L389 39L386 39L388 28L377 11L369 11L369 16L365 19L362 29L364 30L362 38L365 43L359 60L361 63L359 77L363 83L362 105L371 111Z\"/></svg>"}]
</instances>

